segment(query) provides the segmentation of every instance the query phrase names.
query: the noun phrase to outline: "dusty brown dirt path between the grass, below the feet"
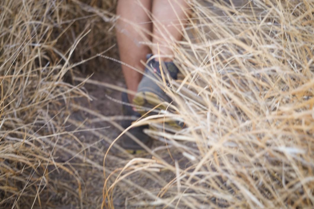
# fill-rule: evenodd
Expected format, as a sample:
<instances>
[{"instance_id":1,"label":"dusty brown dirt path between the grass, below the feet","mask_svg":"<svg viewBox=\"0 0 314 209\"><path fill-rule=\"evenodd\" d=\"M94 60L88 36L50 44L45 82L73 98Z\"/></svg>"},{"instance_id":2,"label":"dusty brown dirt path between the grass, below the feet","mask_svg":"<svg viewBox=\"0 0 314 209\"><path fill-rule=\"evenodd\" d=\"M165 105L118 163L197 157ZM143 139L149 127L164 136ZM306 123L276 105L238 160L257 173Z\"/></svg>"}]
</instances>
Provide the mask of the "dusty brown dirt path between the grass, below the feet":
<instances>
[{"instance_id":1,"label":"dusty brown dirt path between the grass, below the feet","mask_svg":"<svg viewBox=\"0 0 314 209\"><path fill-rule=\"evenodd\" d=\"M124 78L120 65L112 62L109 67L110 70L96 71L92 73L88 71L86 73L78 73L76 77L86 78L93 74L89 80L98 81L100 83L112 84L125 88ZM74 81L77 85L79 82ZM58 162L70 162L74 166L77 175L82 183L82 200L83 208L100 208L102 202L102 189L104 185L103 175L103 160L104 155L110 146L111 142L121 133L121 130L115 126L121 123L122 119L122 104L121 104L121 92L113 90L111 88L85 83L81 88L87 92L91 100L87 98L75 98L72 103L76 107L73 108L75 111L71 114L68 119L67 131L88 129L82 132L74 133L75 137L80 141L73 143L73 138L69 141L62 142L65 149L71 150L69 153L57 153L54 156ZM77 106L80 107L78 108ZM109 121L109 122L108 122ZM118 143L119 144L119 143ZM84 150L84 158L73 158L73 156L79 151ZM123 167L128 159L133 158L134 155L128 154L125 151L116 148L111 148L109 155L106 159L106 175L116 168ZM151 158L147 153L137 154L135 157ZM72 159L73 158L73 159ZM77 182L73 176L69 175L64 171L53 175L57 181L73 181L73 188L58 188L64 192L53 197L53 202L59 202L59 208L70 209L79 208L78 200L68 198L68 194L75 194L78 192ZM154 188L154 184L149 180L141 179L141 174L130 176L135 184L141 185L148 189ZM171 175L169 175L171 178ZM122 184L123 185L123 184ZM130 193L131 192L131 193ZM126 199L139 194L141 191L137 189L125 190L123 186L117 186L115 191L114 205L115 208L126 208ZM127 208L135 208L127 202ZM49 206L49 204L48 204ZM138 208L138 207L137 207Z\"/></svg>"}]
</instances>

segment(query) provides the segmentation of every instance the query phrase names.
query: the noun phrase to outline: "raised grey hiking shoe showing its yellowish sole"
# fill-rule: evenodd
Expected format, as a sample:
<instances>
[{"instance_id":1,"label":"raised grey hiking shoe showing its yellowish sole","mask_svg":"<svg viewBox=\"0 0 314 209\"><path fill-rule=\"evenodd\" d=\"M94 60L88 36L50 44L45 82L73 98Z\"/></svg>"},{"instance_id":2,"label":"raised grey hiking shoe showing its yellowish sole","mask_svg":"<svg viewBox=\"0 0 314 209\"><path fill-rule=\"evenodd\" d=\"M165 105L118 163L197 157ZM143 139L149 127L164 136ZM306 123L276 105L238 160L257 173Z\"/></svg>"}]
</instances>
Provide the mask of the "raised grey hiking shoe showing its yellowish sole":
<instances>
[{"instance_id":1,"label":"raised grey hiking shoe showing its yellowish sole","mask_svg":"<svg viewBox=\"0 0 314 209\"><path fill-rule=\"evenodd\" d=\"M144 115L147 109L151 109L162 102L171 102L171 98L166 95L163 89L161 89L153 79L157 81L161 80L160 62L152 59L152 54L147 55L148 67L145 67L144 75L138 85L138 91L133 99L133 104L144 107L143 109L137 109L137 111ZM171 78L177 79L179 69L173 62L162 62L162 70L164 75L169 74ZM166 76L165 76L166 78ZM166 105L161 105L158 109L166 109Z\"/></svg>"}]
</instances>

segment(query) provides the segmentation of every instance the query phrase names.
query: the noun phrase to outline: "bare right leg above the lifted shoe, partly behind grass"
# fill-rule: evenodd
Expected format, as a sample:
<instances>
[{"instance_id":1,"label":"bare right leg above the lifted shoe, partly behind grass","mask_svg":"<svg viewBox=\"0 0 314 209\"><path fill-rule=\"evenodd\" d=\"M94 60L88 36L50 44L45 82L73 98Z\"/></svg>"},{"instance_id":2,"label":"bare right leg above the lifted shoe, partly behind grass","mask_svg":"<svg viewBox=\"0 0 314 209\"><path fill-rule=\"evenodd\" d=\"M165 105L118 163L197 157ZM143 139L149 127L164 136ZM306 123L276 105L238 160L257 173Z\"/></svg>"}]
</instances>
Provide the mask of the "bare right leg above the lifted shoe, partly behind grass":
<instances>
[{"instance_id":1,"label":"bare right leg above the lifted shoe, partly behind grass","mask_svg":"<svg viewBox=\"0 0 314 209\"><path fill-rule=\"evenodd\" d=\"M188 5L186 0L154 0L152 8L152 16L154 19L153 26L153 47L154 55L158 55L157 43L160 48L161 56L168 56L168 58L161 58L162 61L171 61L173 52L167 40L178 41L181 37L182 23L187 18Z\"/></svg>"}]
</instances>

